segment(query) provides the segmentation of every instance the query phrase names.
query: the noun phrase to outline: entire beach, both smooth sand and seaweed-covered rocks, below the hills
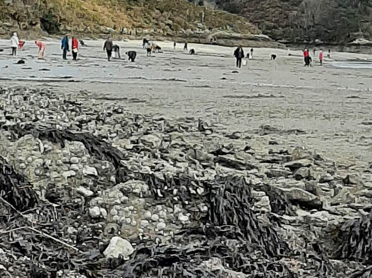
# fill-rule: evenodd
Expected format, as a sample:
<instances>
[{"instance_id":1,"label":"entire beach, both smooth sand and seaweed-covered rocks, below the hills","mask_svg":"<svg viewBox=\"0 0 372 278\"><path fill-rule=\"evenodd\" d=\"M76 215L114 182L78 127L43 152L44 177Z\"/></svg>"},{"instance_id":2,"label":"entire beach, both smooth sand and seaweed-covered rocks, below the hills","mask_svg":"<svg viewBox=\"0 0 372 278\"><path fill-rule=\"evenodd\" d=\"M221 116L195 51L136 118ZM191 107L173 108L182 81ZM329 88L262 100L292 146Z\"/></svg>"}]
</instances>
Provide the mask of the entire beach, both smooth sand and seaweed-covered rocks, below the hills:
<instances>
[{"instance_id":1,"label":"entire beach, both smooth sand and seaweed-covered rocks, below the hills","mask_svg":"<svg viewBox=\"0 0 372 278\"><path fill-rule=\"evenodd\" d=\"M85 43L0 41L0 274L371 277L371 56Z\"/></svg>"}]
</instances>

